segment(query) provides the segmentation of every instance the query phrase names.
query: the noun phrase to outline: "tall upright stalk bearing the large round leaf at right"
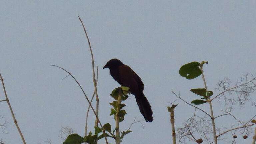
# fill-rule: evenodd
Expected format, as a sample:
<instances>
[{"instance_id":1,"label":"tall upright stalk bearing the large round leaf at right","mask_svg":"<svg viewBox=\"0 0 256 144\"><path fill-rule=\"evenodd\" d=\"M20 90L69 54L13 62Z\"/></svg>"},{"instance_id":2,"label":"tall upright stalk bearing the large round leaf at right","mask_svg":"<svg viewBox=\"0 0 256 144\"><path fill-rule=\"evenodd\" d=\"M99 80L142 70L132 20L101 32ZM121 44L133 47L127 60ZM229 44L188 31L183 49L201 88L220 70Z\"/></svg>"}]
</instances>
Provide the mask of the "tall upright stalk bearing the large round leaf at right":
<instances>
[{"instance_id":1,"label":"tall upright stalk bearing the large round leaf at right","mask_svg":"<svg viewBox=\"0 0 256 144\"><path fill-rule=\"evenodd\" d=\"M206 85L205 78L204 78L203 64L204 63L202 62L201 65L200 65L200 70L202 72L202 78L203 78L203 81L204 81L204 86L205 86L205 89L206 89L206 94L208 94L207 85ZM213 115L212 101L211 101L210 97L207 98L207 102L209 103L210 110L211 110L211 120L212 120L214 143L217 144L217 135L216 135L215 121L214 121L215 118L214 118L214 115Z\"/></svg>"}]
</instances>

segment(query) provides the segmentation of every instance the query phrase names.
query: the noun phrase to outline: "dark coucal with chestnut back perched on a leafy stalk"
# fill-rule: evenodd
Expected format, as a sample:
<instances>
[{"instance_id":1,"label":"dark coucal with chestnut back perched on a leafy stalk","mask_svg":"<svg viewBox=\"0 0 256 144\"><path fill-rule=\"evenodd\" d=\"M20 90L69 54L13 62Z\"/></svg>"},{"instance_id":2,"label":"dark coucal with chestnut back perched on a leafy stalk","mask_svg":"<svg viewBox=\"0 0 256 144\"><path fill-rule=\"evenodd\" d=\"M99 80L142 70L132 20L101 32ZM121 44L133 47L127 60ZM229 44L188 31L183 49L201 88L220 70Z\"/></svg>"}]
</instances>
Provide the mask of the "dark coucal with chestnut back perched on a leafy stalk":
<instances>
[{"instance_id":1,"label":"dark coucal with chestnut back perched on a leafy stalk","mask_svg":"<svg viewBox=\"0 0 256 144\"><path fill-rule=\"evenodd\" d=\"M144 84L141 78L127 65L118 59L111 59L103 67L109 68L110 75L121 85L129 87L129 92L136 98L141 114L146 122L153 121L151 106L143 93Z\"/></svg>"}]
</instances>

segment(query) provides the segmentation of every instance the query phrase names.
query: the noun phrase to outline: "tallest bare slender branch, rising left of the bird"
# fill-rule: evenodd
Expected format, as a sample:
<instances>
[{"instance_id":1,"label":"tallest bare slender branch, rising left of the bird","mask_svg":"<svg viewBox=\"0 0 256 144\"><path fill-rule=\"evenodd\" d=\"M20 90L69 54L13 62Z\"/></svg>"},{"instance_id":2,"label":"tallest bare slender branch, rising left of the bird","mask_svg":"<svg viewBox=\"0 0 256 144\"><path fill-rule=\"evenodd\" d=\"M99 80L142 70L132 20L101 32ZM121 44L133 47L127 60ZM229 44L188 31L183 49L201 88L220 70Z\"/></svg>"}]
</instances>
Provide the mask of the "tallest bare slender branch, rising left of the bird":
<instances>
[{"instance_id":1,"label":"tallest bare slender branch, rising left of the bird","mask_svg":"<svg viewBox=\"0 0 256 144\"><path fill-rule=\"evenodd\" d=\"M96 79L95 79L94 60L93 60L93 54L92 54L91 43L90 43L89 37L88 37L88 35L87 35L87 32L86 32L86 30L85 30L85 27L84 27L84 24L83 24L82 20L80 19L79 16L78 16L78 18L79 18L79 20L81 21L81 23L82 23L82 25L83 25L84 32L85 32L85 35L86 35L86 37L87 37L88 44L89 44L89 48L90 48L90 51L91 51L91 56L92 56L93 84L94 84L95 96L96 96L96 114L97 114L97 116L99 116L99 97L98 97L97 84L96 84ZM95 126L98 126L98 119L95 119Z\"/></svg>"}]
</instances>

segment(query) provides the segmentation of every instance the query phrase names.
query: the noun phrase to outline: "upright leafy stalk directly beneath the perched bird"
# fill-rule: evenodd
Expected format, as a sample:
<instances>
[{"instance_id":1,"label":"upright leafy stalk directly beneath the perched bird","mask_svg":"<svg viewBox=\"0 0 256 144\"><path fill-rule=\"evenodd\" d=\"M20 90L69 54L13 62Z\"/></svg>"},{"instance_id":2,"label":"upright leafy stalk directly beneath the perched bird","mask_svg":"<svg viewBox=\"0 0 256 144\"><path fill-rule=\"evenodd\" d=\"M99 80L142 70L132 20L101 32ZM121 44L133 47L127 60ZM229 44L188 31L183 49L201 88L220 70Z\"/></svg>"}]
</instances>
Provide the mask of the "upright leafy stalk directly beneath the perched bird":
<instances>
[{"instance_id":1,"label":"upright leafy stalk directly beneath the perched bird","mask_svg":"<svg viewBox=\"0 0 256 144\"><path fill-rule=\"evenodd\" d=\"M116 108L116 144L120 144L121 143L121 137L120 137L120 130L119 130L119 110L120 107L119 105L121 104L121 96L122 96L122 88L119 89L119 94L118 94L118 98L117 98L117 108Z\"/></svg>"}]
</instances>

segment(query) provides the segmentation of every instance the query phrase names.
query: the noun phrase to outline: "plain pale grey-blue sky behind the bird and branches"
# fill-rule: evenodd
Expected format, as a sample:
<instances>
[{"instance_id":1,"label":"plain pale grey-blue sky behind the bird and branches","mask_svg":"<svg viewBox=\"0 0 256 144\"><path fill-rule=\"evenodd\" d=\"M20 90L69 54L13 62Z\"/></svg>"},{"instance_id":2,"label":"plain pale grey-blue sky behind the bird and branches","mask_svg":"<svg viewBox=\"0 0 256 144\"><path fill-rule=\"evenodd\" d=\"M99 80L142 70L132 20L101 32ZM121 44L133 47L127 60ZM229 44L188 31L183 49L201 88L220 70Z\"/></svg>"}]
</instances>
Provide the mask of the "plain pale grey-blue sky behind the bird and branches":
<instances>
[{"instance_id":1,"label":"plain pale grey-blue sky behind the bird and branches","mask_svg":"<svg viewBox=\"0 0 256 144\"><path fill-rule=\"evenodd\" d=\"M82 91L70 76L62 80L66 72L49 66L55 64L71 72L87 96L92 96L91 54L78 15L91 42L95 68L99 67L101 122L112 127L115 124L113 116L109 116L109 103L113 101L109 94L119 84L108 69L102 68L108 60L118 58L141 77L154 112L154 121L143 122L144 128L134 124L123 143L167 144L172 143L167 106L177 98L171 90L190 102L198 98L190 89L204 87L201 76L194 80L181 77L178 71L182 65L208 61L205 78L214 94L219 93L215 90L218 81L225 77L235 84L241 74L255 74L255 7L253 0L0 1L0 72L27 144L44 144L47 138L52 144L63 143L58 135L66 126L84 135L88 103ZM255 100L255 93L251 96ZM127 114L121 130L126 130L135 117L143 119L133 95L124 103ZM184 102L177 103L176 128L182 127L194 112ZM217 101L214 106L215 115L223 114L225 106ZM232 113L248 121L255 115L255 107L250 106L250 102L242 108L237 105ZM207 104L199 107L209 112ZM0 103L0 115L9 122L8 134L0 133L0 139L6 144L21 144L6 102ZM88 130L94 131L92 112L89 119ZM236 125L230 117L217 120L217 126L223 123L226 127ZM238 143L251 143L253 135L247 140L237 136Z\"/></svg>"}]
</instances>

